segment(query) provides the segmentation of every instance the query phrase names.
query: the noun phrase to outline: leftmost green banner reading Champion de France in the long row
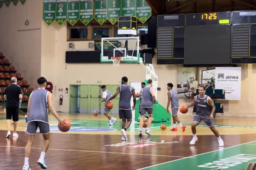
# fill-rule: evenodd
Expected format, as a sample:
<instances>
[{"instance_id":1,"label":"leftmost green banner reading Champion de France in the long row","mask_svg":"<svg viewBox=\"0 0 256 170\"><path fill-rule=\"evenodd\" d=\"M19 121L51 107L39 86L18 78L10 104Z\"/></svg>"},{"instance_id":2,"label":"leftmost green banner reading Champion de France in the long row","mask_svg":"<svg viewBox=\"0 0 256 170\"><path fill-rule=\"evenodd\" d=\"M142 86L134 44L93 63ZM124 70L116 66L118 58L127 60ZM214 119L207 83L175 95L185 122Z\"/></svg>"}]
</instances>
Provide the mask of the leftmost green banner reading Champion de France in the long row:
<instances>
[{"instance_id":1,"label":"leftmost green banner reading Champion de France in the long row","mask_svg":"<svg viewBox=\"0 0 256 170\"><path fill-rule=\"evenodd\" d=\"M56 18L56 0L43 0L43 20L49 26Z\"/></svg>"}]
</instances>

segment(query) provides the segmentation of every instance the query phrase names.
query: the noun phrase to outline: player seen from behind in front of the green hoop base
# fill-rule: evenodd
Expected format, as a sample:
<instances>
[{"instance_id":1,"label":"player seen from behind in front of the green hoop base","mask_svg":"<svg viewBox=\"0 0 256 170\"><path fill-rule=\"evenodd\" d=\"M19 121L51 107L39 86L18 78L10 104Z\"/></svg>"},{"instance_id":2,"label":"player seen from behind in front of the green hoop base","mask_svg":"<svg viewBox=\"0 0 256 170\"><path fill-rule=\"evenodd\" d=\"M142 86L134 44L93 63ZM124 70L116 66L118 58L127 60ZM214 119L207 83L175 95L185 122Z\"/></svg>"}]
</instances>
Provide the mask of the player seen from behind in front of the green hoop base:
<instances>
[{"instance_id":1,"label":"player seen from behind in front of the green hoop base","mask_svg":"<svg viewBox=\"0 0 256 170\"><path fill-rule=\"evenodd\" d=\"M143 127L146 111L148 112L148 123L147 123L147 129L145 130L145 133L147 133L148 135L151 135L150 125L151 125L152 116L153 116L153 103L157 101L156 96L154 94L154 88L152 88L151 86L152 86L152 80L148 79L147 87L143 88L141 93L139 136L143 136L142 127Z\"/></svg>"}]
</instances>

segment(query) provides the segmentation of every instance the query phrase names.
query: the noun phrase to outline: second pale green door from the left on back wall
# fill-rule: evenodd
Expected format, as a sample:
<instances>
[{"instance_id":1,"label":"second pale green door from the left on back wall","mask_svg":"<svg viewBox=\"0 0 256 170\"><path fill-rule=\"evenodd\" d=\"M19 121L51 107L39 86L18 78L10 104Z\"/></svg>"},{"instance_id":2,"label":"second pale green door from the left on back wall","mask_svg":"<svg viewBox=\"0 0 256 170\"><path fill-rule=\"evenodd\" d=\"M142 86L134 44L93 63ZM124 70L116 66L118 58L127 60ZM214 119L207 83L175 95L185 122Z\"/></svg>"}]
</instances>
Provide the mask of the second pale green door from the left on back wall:
<instances>
[{"instance_id":1,"label":"second pale green door from the left on back wall","mask_svg":"<svg viewBox=\"0 0 256 170\"><path fill-rule=\"evenodd\" d=\"M80 113L88 113L88 85L80 86Z\"/></svg>"}]
</instances>

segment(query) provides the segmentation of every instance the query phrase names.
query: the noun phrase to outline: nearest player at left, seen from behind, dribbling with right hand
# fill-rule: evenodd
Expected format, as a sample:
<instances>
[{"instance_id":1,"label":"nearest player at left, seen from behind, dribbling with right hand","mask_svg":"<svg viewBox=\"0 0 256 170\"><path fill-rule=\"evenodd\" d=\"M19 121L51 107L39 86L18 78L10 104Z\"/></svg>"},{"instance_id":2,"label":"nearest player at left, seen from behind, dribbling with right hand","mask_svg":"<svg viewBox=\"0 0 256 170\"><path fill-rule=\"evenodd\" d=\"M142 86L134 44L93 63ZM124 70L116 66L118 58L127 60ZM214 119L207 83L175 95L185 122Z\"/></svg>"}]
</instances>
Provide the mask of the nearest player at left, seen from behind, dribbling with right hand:
<instances>
[{"instance_id":1,"label":"nearest player at left, seen from behind, dribbling with right hand","mask_svg":"<svg viewBox=\"0 0 256 170\"><path fill-rule=\"evenodd\" d=\"M29 139L26 144L25 162L22 170L31 170L29 168L29 155L38 127L40 129L40 133L42 133L44 137L44 145L42 147L41 156L38 159L38 164L42 169L47 169L47 165L44 161L44 156L47 152L50 142L47 105L49 107L49 111L53 116L55 116L56 119L58 119L58 122L61 124L61 126L65 125L63 119L58 116L55 109L52 107L52 94L45 89L47 80L44 77L40 77L38 78L37 82L38 89L33 91L29 96L27 113L29 123L26 130L26 133L29 134Z\"/></svg>"}]
</instances>

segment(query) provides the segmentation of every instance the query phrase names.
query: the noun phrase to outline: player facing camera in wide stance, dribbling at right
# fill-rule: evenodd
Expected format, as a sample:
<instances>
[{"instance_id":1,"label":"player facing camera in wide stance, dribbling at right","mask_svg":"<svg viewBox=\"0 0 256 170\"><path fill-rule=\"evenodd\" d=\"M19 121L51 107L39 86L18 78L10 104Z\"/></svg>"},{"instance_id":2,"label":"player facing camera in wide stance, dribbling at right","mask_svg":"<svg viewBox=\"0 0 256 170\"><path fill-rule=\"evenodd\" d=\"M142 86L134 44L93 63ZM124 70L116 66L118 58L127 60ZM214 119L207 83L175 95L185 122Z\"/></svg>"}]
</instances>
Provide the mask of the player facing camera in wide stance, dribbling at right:
<instances>
[{"instance_id":1,"label":"player facing camera in wide stance, dribbling at right","mask_svg":"<svg viewBox=\"0 0 256 170\"><path fill-rule=\"evenodd\" d=\"M193 133L193 138L190 141L189 144L195 144L195 142L198 140L196 136L196 129L195 127L203 120L205 124L212 130L212 132L215 134L215 136L218 138L219 146L224 146L224 142L221 139L221 136L218 133L218 130L215 129L213 124L213 113L215 111L215 105L212 101L212 99L205 95L205 87L200 86L198 88L199 95L195 96L194 101L187 105L188 108L192 106L196 106L196 115L194 116L192 122L191 122L191 129Z\"/></svg>"}]
</instances>

